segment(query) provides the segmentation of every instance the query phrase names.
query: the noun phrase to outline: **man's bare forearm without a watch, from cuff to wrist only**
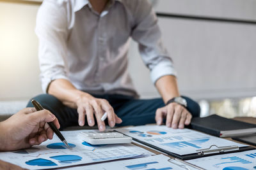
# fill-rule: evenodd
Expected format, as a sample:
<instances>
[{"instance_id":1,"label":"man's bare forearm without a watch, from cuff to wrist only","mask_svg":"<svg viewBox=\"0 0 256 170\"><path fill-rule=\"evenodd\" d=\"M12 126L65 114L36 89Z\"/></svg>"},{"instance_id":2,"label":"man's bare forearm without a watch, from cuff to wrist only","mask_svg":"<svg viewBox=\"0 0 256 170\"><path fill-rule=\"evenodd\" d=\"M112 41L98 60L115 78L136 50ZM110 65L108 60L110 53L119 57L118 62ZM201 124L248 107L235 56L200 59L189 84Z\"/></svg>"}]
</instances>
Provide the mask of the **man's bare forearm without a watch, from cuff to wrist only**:
<instances>
[{"instance_id":1,"label":"man's bare forearm without a watch, from cuff to wrist only","mask_svg":"<svg viewBox=\"0 0 256 170\"><path fill-rule=\"evenodd\" d=\"M81 90L77 90L70 81L65 79L57 79L51 82L49 85L48 93L57 97L63 104L70 108L77 108L77 100L81 95L86 93ZM89 94L88 94L89 95Z\"/></svg>"}]
</instances>

